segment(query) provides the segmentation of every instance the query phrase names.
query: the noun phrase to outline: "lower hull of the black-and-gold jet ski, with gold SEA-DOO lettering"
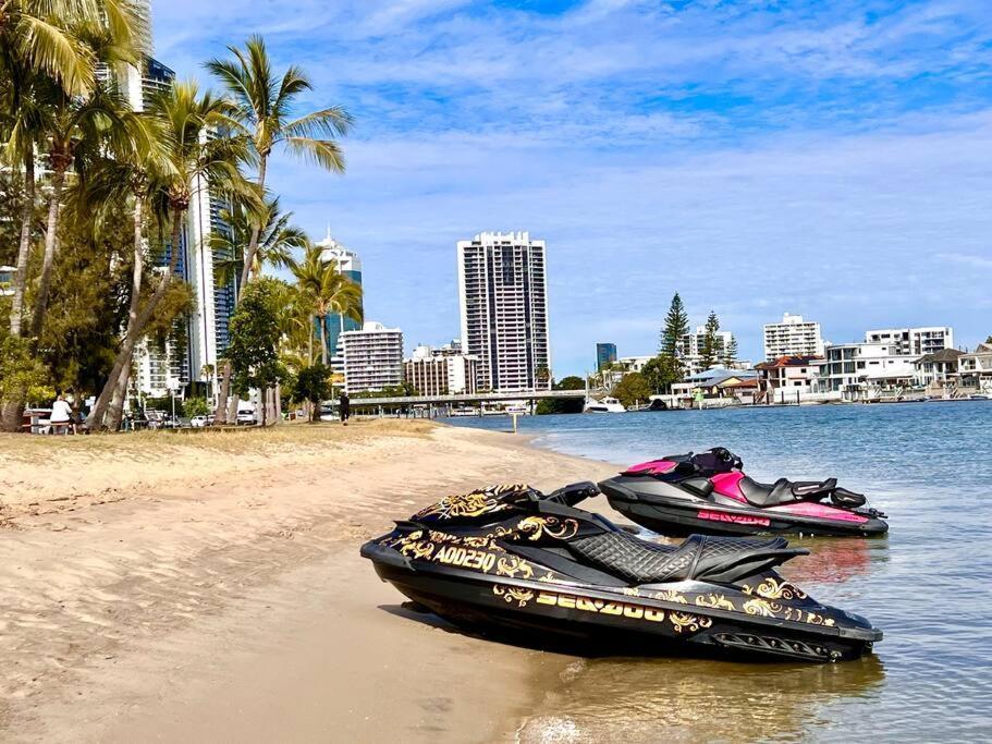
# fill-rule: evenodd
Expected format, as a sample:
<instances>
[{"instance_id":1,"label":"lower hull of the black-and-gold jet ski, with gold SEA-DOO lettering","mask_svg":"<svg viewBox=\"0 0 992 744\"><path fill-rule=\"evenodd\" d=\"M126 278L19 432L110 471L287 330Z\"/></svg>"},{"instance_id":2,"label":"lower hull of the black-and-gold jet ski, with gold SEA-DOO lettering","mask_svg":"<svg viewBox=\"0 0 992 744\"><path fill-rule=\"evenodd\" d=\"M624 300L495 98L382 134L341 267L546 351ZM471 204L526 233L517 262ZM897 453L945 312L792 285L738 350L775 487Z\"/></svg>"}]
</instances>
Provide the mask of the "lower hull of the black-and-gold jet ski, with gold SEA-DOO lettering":
<instances>
[{"instance_id":1,"label":"lower hull of the black-and-gold jet ski, with gold SEA-DOO lettering","mask_svg":"<svg viewBox=\"0 0 992 744\"><path fill-rule=\"evenodd\" d=\"M867 621L846 613L835 620L809 609L785 609L758 595L728 598L732 589L718 595L713 585L688 583L679 594L671 588L613 590L497 577L412 559L379 541L363 546L362 554L372 561L380 578L458 626L523 635L529 643L565 644L587 655L695 649L701 655L829 662L858 658L882 637ZM693 591L700 588L706 593ZM750 610L744 607L749 602ZM786 613L799 620L787 620Z\"/></svg>"}]
</instances>

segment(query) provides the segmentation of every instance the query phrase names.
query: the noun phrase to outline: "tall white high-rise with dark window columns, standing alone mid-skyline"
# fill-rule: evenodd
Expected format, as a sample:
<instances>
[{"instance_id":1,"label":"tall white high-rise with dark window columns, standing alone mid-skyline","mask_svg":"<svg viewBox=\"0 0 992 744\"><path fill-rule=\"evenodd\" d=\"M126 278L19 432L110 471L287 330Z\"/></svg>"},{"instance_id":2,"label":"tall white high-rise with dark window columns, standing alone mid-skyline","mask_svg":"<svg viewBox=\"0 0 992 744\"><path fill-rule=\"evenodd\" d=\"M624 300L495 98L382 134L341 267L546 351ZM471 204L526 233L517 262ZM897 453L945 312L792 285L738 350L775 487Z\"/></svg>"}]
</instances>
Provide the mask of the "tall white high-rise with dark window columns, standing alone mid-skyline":
<instances>
[{"instance_id":1,"label":"tall white high-rise with dark window columns, standing alone mid-skyline","mask_svg":"<svg viewBox=\"0 0 992 744\"><path fill-rule=\"evenodd\" d=\"M479 389L549 388L544 241L527 232L483 232L457 246L462 343L479 357Z\"/></svg>"}]
</instances>

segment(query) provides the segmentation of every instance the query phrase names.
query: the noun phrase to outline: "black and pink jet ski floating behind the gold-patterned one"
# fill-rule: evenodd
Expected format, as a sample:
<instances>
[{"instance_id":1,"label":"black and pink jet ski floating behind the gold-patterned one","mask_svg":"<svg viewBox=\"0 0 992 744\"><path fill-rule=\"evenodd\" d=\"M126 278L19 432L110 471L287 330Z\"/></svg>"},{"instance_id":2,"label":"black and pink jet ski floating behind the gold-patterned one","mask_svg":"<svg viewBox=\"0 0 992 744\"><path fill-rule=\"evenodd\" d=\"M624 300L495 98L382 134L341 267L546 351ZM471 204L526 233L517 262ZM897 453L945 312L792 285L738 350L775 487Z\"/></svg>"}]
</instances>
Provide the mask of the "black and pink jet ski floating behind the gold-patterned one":
<instances>
[{"instance_id":1,"label":"black and pink jet ski floating behind the gold-patterned one","mask_svg":"<svg viewBox=\"0 0 992 744\"><path fill-rule=\"evenodd\" d=\"M885 515L835 478L762 484L722 447L641 463L599 484L624 516L663 535L882 535Z\"/></svg>"}]
</instances>

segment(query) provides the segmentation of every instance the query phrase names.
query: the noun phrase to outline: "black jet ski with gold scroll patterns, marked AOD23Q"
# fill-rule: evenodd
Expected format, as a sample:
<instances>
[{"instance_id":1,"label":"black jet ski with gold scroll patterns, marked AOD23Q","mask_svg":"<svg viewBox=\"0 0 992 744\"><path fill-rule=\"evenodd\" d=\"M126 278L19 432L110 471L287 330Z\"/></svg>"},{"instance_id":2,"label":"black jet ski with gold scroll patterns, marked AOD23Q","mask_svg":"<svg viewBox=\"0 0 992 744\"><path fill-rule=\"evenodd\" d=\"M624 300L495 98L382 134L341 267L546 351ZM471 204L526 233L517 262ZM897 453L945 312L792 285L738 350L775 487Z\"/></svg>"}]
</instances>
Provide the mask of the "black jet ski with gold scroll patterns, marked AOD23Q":
<instances>
[{"instance_id":1,"label":"black jet ski with gold scroll patterns, marked AOD23Q","mask_svg":"<svg viewBox=\"0 0 992 744\"><path fill-rule=\"evenodd\" d=\"M882 638L775 572L808 552L784 538L649 542L576 508L596 493L586 483L548 496L519 485L448 497L366 542L362 556L455 624L583 639L590 652L683 646L838 661Z\"/></svg>"}]
</instances>

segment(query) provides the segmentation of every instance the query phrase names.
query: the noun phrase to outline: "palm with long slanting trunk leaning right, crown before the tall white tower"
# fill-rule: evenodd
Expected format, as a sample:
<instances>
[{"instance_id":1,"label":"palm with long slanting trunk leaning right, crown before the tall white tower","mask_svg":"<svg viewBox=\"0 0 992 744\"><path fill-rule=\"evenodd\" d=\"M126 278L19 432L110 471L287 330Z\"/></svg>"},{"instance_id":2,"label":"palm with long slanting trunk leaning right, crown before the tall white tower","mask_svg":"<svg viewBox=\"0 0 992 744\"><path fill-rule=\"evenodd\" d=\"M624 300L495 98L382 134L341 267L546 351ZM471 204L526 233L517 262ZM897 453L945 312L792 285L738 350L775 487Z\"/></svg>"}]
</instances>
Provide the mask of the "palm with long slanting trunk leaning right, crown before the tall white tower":
<instances>
[{"instance_id":1,"label":"palm with long slanting trunk leaning right, crown before the tall white tower","mask_svg":"<svg viewBox=\"0 0 992 744\"><path fill-rule=\"evenodd\" d=\"M138 313L136 322L130 327L131 332L124 338L110 377L89 413L87 424L90 428L102 424L111 400L113 410L108 426L113 429L120 423L119 412L123 405L123 390L126 390L134 347L175 277L183 221L197 184L209 182L229 190L240 188L237 162L245 157L244 139L210 136L213 127L222 123L225 107L222 99L209 93L201 95L196 83L175 83L148 106L149 115L164 132L164 167L154 181L152 199L163 206L171 223L171 240L168 246L162 246L169 263L151 296ZM250 199L254 190L238 196ZM120 382L122 378L123 386Z\"/></svg>"}]
</instances>

